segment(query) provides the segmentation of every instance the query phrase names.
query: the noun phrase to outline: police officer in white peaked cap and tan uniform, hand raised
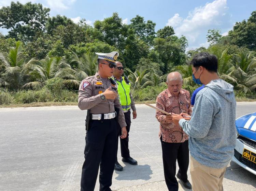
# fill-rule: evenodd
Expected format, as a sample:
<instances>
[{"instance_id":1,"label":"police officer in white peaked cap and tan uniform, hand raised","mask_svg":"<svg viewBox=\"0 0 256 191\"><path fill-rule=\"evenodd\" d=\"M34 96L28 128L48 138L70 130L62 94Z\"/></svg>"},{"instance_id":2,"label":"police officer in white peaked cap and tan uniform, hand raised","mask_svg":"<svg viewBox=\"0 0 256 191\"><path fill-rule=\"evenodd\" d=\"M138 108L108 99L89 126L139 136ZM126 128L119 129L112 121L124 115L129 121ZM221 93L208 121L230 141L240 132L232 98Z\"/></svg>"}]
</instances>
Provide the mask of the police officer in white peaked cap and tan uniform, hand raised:
<instances>
[{"instance_id":1,"label":"police officer in white peaked cap and tan uniform, hand raised","mask_svg":"<svg viewBox=\"0 0 256 191\"><path fill-rule=\"evenodd\" d=\"M84 79L79 87L78 106L90 109L89 130L85 136L85 161L82 168L81 190L93 191L100 166L100 191L109 191L115 165L116 112L122 127L120 138L127 136L126 123L117 96L117 86L109 77L113 75L118 52L96 53L99 70ZM88 122L88 121L87 121Z\"/></svg>"}]
</instances>

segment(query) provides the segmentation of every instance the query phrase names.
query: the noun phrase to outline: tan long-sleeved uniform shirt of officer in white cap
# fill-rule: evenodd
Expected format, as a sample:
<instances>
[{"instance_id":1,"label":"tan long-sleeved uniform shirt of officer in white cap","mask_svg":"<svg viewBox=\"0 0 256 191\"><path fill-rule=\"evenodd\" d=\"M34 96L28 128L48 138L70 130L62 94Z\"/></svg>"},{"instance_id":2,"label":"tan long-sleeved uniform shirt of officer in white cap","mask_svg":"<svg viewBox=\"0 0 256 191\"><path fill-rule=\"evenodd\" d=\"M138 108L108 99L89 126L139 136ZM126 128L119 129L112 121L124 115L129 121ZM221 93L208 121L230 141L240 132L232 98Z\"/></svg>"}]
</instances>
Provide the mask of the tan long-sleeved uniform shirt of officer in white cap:
<instances>
[{"instance_id":1,"label":"tan long-sleeved uniform shirt of officer in white cap","mask_svg":"<svg viewBox=\"0 0 256 191\"><path fill-rule=\"evenodd\" d=\"M115 111L114 107L119 108L118 122L121 127L126 127L125 117L118 97L115 100L100 98L100 94L109 87L116 91L117 86L111 84L109 79L101 79L96 73L84 79L79 86L78 107L81 110L90 109L91 114L108 114Z\"/></svg>"}]
</instances>

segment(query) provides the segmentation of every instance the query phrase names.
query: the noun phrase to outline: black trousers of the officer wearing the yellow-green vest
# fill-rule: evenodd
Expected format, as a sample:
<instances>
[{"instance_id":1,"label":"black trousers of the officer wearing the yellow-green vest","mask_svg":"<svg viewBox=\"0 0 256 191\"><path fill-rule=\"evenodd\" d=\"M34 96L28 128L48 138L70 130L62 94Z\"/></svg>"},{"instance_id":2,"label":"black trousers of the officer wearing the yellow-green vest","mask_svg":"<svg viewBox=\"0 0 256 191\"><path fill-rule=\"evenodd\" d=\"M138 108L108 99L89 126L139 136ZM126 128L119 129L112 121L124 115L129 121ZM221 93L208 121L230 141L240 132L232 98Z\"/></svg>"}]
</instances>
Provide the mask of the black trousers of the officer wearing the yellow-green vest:
<instances>
[{"instance_id":1,"label":"black trousers of the officer wearing the yellow-green vest","mask_svg":"<svg viewBox=\"0 0 256 191\"><path fill-rule=\"evenodd\" d=\"M125 115L125 122L126 122L126 131L127 131L127 136L125 139L121 139L120 135L122 134L121 127L119 123L117 122L117 131L116 131L116 161L117 161L117 151L118 151L118 139L120 138L120 147L121 147L121 156L122 157L129 157L130 156L130 151L129 151L129 131L130 131L130 126L131 126L131 111L127 111L124 113ZM119 137L119 138L118 138Z\"/></svg>"}]
</instances>

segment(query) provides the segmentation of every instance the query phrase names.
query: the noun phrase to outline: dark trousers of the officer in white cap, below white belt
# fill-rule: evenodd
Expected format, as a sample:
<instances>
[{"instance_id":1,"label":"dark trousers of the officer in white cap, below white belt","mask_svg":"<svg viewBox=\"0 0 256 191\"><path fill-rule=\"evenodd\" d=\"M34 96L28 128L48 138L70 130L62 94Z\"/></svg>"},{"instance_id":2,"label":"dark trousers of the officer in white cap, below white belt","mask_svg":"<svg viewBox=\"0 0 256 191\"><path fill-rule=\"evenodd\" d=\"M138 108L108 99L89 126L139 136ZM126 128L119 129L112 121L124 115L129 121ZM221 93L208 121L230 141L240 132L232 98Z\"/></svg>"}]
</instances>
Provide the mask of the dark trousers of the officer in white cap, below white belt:
<instances>
[{"instance_id":1,"label":"dark trousers of the officer in white cap, below white belt","mask_svg":"<svg viewBox=\"0 0 256 191\"><path fill-rule=\"evenodd\" d=\"M93 191L100 166L100 191L110 191L115 166L116 120L91 120L85 136L81 191Z\"/></svg>"}]
</instances>

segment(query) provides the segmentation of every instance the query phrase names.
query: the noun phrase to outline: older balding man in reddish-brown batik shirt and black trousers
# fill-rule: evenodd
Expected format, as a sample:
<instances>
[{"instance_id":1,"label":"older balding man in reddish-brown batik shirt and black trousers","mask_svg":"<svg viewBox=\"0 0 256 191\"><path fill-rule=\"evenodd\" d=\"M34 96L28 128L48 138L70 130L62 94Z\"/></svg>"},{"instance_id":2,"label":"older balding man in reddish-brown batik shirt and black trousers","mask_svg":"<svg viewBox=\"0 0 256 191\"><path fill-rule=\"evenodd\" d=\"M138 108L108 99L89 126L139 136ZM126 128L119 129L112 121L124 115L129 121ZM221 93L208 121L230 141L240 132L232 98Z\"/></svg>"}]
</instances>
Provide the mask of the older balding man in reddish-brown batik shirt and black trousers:
<instances>
[{"instance_id":1,"label":"older balding man in reddish-brown batik shirt and black trousers","mask_svg":"<svg viewBox=\"0 0 256 191\"><path fill-rule=\"evenodd\" d=\"M156 107L181 115L191 115L190 93L181 89L183 80L179 72L171 72L167 76L168 88L162 91L156 99ZM175 178L176 160L179 164L177 178L181 183L191 189L191 184L187 179L189 162L188 135L179 125L175 125L171 115L156 112L156 118L160 122L159 138L162 146L163 171L166 185L169 190L177 191L179 184Z\"/></svg>"}]
</instances>

